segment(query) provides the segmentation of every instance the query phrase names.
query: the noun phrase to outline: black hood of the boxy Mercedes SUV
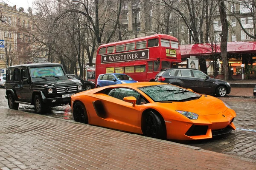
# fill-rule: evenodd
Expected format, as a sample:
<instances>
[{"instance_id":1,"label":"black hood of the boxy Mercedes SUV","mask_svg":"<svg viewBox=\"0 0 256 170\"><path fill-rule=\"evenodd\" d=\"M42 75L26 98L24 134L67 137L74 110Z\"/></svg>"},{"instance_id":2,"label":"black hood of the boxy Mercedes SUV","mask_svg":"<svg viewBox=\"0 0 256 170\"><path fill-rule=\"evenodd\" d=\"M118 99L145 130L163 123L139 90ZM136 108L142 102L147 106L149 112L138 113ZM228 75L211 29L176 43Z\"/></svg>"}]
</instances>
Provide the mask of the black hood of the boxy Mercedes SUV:
<instances>
[{"instance_id":1,"label":"black hood of the boxy Mercedes SUV","mask_svg":"<svg viewBox=\"0 0 256 170\"><path fill-rule=\"evenodd\" d=\"M34 84L34 85L49 85L49 86L55 86L55 87L77 85L76 82L73 82L69 79L45 80L45 81L32 82L32 84Z\"/></svg>"}]
</instances>

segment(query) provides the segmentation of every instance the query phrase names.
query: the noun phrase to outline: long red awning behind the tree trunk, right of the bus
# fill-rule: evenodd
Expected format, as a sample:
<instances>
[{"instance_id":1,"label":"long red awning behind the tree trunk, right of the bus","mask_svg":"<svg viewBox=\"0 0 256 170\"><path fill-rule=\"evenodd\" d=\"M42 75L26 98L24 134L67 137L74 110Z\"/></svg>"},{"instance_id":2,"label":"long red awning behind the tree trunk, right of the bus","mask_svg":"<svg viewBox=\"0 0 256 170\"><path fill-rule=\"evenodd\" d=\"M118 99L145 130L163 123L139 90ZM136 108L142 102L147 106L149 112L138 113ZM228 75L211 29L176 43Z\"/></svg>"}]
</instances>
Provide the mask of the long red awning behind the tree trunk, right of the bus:
<instances>
[{"instance_id":1,"label":"long red awning behind the tree trunk, right of the bus","mask_svg":"<svg viewBox=\"0 0 256 170\"><path fill-rule=\"evenodd\" d=\"M220 43L212 45L206 44L188 44L180 45L182 58L198 55L209 55L212 53L220 53ZM227 42L227 52L229 54L256 53L256 42Z\"/></svg>"}]
</instances>

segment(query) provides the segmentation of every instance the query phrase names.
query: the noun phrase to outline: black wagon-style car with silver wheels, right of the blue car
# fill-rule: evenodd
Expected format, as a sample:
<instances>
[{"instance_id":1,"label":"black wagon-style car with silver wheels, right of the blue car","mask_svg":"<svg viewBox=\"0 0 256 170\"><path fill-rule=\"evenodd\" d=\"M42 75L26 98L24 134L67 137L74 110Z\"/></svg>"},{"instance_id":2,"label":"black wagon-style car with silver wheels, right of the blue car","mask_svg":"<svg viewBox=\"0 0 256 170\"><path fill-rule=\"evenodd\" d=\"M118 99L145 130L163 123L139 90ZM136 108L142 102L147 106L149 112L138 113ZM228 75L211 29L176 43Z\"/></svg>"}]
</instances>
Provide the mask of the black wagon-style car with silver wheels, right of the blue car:
<instances>
[{"instance_id":1,"label":"black wagon-style car with silver wheels, right of the blue car","mask_svg":"<svg viewBox=\"0 0 256 170\"><path fill-rule=\"evenodd\" d=\"M216 94L220 97L230 94L231 91L228 82L212 79L204 72L192 68L164 69L156 75L155 81L190 88L201 94Z\"/></svg>"}]
</instances>

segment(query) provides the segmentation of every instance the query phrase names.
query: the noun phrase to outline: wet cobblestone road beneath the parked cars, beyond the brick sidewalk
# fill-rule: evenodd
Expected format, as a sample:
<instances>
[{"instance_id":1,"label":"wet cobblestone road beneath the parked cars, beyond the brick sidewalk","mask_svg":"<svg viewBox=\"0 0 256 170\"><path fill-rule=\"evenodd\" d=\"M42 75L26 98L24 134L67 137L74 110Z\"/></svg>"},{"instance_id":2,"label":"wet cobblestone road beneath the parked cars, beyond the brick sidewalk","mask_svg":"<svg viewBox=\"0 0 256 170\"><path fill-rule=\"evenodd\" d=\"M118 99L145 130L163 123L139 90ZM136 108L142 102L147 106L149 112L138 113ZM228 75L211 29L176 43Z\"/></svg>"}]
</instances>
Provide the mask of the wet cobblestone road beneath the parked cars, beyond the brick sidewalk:
<instances>
[{"instance_id":1,"label":"wet cobblestone road beneath the parked cars, beyond the brick sidewalk","mask_svg":"<svg viewBox=\"0 0 256 170\"><path fill-rule=\"evenodd\" d=\"M0 90L1 96L4 89ZM237 127L235 131L228 135L208 140L175 142L256 160L256 98L226 97L220 99L229 104L237 113L237 117L234 120L234 124ZM1 101L0 107L8 108L6 103L6 99ZM27 105L20 105L19 110L34 112L33 106ZM69 106L54 107L47 116L73 121L73 114Z\"/></svg>"}]
</instances>

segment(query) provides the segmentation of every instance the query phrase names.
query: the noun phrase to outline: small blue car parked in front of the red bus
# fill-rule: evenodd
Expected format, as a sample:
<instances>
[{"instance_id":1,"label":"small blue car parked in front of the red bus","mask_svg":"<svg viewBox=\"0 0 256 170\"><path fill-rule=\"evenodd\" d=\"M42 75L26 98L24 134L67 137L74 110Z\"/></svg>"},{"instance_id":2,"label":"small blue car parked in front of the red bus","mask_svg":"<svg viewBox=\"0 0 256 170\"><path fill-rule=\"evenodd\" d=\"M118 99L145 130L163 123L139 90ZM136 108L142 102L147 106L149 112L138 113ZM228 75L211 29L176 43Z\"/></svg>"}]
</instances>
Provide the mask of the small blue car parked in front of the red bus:
<instances>
[{"instance_id":1,"label":"small blue car parked in front of the red bus","mask_svg":"<svg viewBox=\"0 0 256 170\"><path fill-rule=\"evenodd\" d=\"M97 79L97 85L96 87L103 87L107 85L117 85L117 84L125 84L125 83L133 83L137 82L134 79L132 79L130 76L126 74L119 74L119 73L113 73L113 74L100 74Z\"/></svg>"}]
</instances>

